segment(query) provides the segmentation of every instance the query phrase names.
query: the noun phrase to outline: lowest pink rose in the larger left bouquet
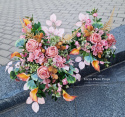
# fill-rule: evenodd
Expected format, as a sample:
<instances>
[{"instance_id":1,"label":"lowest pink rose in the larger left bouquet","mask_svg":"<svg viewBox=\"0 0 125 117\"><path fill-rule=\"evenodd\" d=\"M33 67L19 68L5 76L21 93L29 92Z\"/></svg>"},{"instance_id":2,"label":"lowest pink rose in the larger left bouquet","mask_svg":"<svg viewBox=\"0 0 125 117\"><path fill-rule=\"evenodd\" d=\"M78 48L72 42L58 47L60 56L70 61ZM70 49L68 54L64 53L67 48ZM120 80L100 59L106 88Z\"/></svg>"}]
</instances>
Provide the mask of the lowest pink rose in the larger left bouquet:
<instances>
[{"instance_id":1,"label":"lowest pink rose in the larger left bouquet","mask_svg":"<svg viewBox=\"0 0 125 117\"><path fill-rule=\"evenodd\" d=\"M48 71L48 68L46 66L41 66L37 69L37 75L41 78L41 79L47 79L50 77L50 73Z\"/></svg>"}]
</instances>

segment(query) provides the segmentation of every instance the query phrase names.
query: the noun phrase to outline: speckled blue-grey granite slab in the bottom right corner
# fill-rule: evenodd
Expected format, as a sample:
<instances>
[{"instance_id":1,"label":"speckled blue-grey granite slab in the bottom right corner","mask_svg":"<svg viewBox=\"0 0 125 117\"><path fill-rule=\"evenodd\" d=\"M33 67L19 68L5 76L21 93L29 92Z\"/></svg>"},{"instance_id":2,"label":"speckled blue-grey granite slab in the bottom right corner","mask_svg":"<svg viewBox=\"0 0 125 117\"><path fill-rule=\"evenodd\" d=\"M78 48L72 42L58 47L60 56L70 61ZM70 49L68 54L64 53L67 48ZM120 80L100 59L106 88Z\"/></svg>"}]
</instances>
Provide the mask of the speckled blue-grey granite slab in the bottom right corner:
<instances>
[{"instance_id":1,"label":"speckled blue-grey granite slab in the bottom right corner","mask_svg":"<svg viewBox=\"0 0 125 117\"><path fill-rule=\"evenodd\" d=\"M74 88L77 117L124 117L125 83Z\"/></svg>"}]
</instances>

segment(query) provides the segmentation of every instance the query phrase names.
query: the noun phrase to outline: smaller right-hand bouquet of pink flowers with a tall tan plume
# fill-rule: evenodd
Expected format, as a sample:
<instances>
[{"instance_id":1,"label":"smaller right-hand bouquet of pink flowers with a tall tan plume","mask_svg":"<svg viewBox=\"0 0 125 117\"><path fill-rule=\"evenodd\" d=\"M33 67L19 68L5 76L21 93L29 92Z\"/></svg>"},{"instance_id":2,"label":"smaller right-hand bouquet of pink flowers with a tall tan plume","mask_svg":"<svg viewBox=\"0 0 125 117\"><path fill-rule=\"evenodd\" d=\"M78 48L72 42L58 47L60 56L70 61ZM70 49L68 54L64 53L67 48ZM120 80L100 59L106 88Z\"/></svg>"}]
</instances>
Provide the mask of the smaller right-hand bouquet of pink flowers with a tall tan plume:
<instances>
[{"instance_id":1,"label":"smaller right-hand bouquet of pink flowers with a tall tan plume","mask_svg":"<svg viewBox=\"0 0 125 117\"><path fill-rule=\"evenodd\" d=\"M105 64L106 67L108 67L110 63L108 59L111 56L115 56L116 40L114 36L109 33L114 10L105 25L101 23L102 18L97 18L97 11L98 9L93 9L91 12L87 11L89 15L93 16L93 23L91 19L89 19L88 14L84 15L80 13L80 21L76 23L76 26L79 28L73 31L71 42L71 48L73 50L71 54L80 54L83 57L84 62L81 57L77 57L75 60L79 62L81 69L91 63L95 70L100 71L99 63Z\"/></svg>"}]
</instances>

